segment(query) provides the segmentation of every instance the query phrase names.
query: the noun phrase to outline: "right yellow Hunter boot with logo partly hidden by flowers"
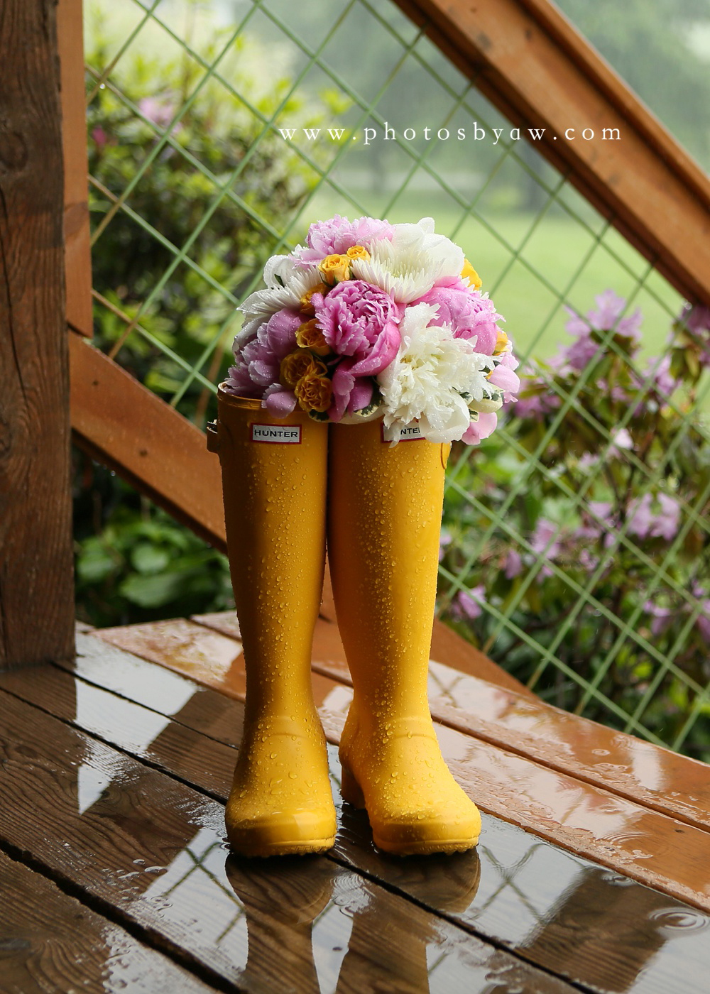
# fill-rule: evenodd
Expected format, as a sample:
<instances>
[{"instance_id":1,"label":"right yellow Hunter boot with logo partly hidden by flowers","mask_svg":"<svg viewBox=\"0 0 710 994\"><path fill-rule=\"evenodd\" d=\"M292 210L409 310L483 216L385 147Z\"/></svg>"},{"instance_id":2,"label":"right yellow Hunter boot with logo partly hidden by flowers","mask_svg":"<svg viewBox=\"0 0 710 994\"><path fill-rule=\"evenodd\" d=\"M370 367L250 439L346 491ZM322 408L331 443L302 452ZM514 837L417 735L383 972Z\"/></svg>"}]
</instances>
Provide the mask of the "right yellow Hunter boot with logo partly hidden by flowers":
<instances>
[{"instance_id":1,"label":"right yellow Hunter boot with logo partly hidden by flowers","mask_svg":"<svg viewBox=\"0 0 710 994\"><path fill-rule=\"evenodd\" d=\"M480 815L451 776L427 695L448 446L383 441L379 420L331 424L328 558L354 699L342 794L380 849L453 853Z\"/></svg>"}]
</instances>

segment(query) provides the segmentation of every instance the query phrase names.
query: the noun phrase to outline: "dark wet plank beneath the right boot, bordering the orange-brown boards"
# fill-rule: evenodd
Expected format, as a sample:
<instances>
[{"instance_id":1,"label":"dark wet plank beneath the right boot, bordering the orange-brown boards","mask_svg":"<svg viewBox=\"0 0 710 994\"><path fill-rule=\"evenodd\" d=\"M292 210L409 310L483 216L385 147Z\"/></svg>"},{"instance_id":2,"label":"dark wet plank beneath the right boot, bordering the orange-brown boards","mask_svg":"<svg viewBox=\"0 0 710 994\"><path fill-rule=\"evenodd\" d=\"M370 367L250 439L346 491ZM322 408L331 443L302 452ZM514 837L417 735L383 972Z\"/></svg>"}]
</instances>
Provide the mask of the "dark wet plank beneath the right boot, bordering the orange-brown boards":
<instances>
[{"instance_id":1,"label":"dark wet plank beneath the right boot, bordering the orange-brown boards","mask_svg":"<svg viewBox=\"0 0 710 994\"><path fill-rule=\"evenodd\" d=\"M115 674L121 669L121 654L117 650L109 649L108 652ZM85 659L85 672L88 672L86 663ZM142 665L146 671L151 669L150 664ZM62 690L62 683L67 687L72 678L69 673L56 672L59 679L54 682L48 673L32 684L22 675L9 675L4 686L13 693L24 693L26 698L45 707L55 708L56 713L71 721L72 695L66 689ZM137 675L132 668L132 678ZM171 681L179 679L169 672L165 677L168 688ZM114 680L120 682L115 676ZM155 681L152 686L160 698L166 699L167 695L160 693ZM141 693L144 695L145 690ZM99 694L105 692L99 691ZM76 696L79 702L81 692ZM202 692L200 697L203 710L211 700L215 700L220 709L219 695L208 691ZM231 703L234 709L242 707L239 702ZM134 707L137 712L144 710L137 705ZM145 724L138 716L131 717L128 712L119 710L116 718L106 717L111 715L110 703L100 696L95 698L92 711L83 709L79 703L76 710L76 722L82 722L90 729L100 728L101 716L104 716L102 738L134 755L147 756L151 762L190 783L200 786L209 780L214 789L215 778L221 777L222 785L220 787L218 783L217 794L223 798L227 796L233 749L228 750L231 755L225 758L224 753L215 748L213 768L206 773L205 749L188 734L187 728L180 730L180 748L174 746L174 733L168 737L173 745L165 748L165 733L160 731L156 732L152 743L136 746L136 742L144 744L146 739ZM154 718L153 714L149 715L148 725ZM173 723L182 718L183 712L178 712ZM138 748L142 751L138 752ZM334 746L331 746L331 765L337 786L339 767ZM336 859L358 873L365 872L385 881L389 887L432 911L447 914L486 938L521 951L544 968L557 969L558 962L564 963L562 972L577 983L590 984L595 989L621 990L625 987L615 987L619 977L626 978L629 983L635 978L638 984L635 990L660 992L668 989L667 980L675 974L681 979L673 990L692 990L697 980L693 979L684 987L684 978L697 977L706 962L703 955L707 959L706 965L710 965L710 945L704 933L706 929L710 931L710 916L679 905L665 894L634 884L577 855L549 846L512 825L484 816L478 855L397 860L374 849L362 812L355 812L347 805L339 804L339 807ZM580 932L584 940L581 940ZM626 952L629 945L632 954Z\"/></svg>"}]
</instances>

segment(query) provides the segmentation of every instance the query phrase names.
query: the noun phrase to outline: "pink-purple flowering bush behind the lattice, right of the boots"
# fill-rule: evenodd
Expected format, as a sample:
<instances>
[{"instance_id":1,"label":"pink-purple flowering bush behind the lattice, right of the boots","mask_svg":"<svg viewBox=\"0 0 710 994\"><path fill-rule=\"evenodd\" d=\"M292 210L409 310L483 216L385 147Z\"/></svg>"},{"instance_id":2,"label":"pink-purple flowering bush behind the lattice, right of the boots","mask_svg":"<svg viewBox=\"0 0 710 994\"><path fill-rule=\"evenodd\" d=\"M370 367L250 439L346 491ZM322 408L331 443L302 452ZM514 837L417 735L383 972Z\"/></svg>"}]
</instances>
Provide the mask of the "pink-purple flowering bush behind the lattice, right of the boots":
<instances>
[{"instance_id":1,"label":"pink-purple flowering bush behind the lattice, right of the boots","mask_svg":"<svg viewBox=\"0 0 710 994\"><path fill-rule=\"evenodd\" d=\"M669 745L688 722L684 747L709 758L708 706L696 700L710 679L710 443L694 412L710 310L687 309L645 365L641 314L625 311L607 291L586 318L572 314L571 342L530 371L507 439L485 441L455 476L444 577L474 565L442 608L520 679L537 673L536 691L561 707L579 706L584 689L541 666L535 643L599 684L611 706L593 696L586 715L621 728L635 715Z\"/></svg>"}]
</instances>

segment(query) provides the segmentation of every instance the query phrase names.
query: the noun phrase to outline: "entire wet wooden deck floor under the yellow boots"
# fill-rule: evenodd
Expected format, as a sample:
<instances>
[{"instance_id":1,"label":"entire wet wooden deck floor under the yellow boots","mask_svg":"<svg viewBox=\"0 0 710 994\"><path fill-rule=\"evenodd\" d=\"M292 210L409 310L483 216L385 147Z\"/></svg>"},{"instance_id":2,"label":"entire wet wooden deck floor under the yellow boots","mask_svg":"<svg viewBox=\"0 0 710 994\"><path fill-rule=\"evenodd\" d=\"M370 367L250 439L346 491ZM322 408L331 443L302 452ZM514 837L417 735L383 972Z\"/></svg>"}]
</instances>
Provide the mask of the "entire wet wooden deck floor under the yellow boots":
<instances>
[{"instance_id":1,"label":"entire wet wooden deck floor under the yellow boots","mask_svg":"<svg viewBox=\"0 0 710 994\"><path fill-rule=\"evenodd\" d=\"M340 802L351 691L321 619L335 848L239 860L233 617L78 638L72 666L0 674L0 991L706 989L706 765L436 662L444 754L483 834L455 857L386 857Z\"/></svg>"}]
</instances>

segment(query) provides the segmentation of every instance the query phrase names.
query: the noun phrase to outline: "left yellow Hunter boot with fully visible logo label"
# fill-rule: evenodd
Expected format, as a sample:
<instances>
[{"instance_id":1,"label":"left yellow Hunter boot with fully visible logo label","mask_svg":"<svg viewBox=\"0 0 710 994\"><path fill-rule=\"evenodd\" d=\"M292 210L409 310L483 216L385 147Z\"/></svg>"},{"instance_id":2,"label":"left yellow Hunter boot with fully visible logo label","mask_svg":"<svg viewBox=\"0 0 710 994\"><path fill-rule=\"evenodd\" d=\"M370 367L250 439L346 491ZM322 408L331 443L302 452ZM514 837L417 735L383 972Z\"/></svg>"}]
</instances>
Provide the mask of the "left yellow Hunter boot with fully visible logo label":
<instances>
[{"instance_id":1,"label":"left yellow Hunter boot with fully visible logo label","mask_svg":"<svg viewBox=\"0 0 710 994\"><path fill-rule=\"evenodd\" d=\"M325 561L327 424L276 420L219 392L217 436L247 670L244 738L227 833L245 856L318 853L335 841L325 737L310 678ZM214 431L214 429L213 429Z\"/></svg>"}]
</instances>

